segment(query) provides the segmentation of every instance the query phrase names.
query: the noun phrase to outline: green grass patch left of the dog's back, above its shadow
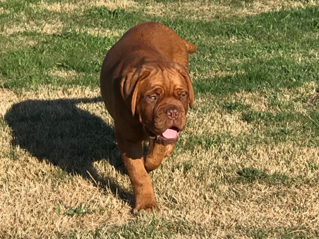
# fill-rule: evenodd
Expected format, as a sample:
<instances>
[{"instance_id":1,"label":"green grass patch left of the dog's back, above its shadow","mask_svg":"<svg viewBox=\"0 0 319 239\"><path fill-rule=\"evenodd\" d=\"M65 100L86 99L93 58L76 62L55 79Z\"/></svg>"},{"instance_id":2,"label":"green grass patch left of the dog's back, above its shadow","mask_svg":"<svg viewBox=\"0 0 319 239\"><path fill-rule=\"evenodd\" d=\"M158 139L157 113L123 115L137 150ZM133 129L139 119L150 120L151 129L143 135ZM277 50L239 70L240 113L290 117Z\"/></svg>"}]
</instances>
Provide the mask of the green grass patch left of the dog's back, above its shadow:
<instances>
[{"instance_id":1,"label":"green grass patch left of the dog's back, above its shadow","mask_svg":"<svg viewBox=\"0 0 319 239\"><path fill-rule=\"evenodd\" d=\"M2 87L34 89L43 84L98 86L96 78L106 47L114 44L115 39L93 37L74 31L42 37L45 40L33 47L12 50L2 55L1 76L5 79ZM87 75L67 82L48 74L48 69L54 67L84 72Z\"/></svg>"}]
</instances>

